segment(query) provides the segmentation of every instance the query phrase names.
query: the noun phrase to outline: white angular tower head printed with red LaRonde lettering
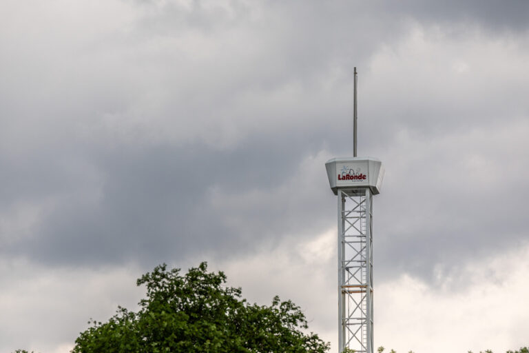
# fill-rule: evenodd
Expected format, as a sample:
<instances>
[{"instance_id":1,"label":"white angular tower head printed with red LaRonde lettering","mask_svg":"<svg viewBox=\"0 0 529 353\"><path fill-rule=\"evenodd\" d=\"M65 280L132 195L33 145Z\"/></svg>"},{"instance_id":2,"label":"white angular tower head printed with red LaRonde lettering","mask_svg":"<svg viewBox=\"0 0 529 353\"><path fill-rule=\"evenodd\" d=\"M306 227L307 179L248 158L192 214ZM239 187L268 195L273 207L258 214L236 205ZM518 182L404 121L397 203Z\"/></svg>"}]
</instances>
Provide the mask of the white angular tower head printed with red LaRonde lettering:
<instances>
[{"instance_id":1,"label":"white angular tower head printed with red LaRonde lettering","mask_svg":"<svg viewBox=\"0 0 529 353\"><path fill-rule=\"evenodd\" d=\"M325 163L329 185L335 194L338 189L370 188L373 194L380 193L384 167L382 162L371 157L333 158Z\"/></svg>"}]
</instances>

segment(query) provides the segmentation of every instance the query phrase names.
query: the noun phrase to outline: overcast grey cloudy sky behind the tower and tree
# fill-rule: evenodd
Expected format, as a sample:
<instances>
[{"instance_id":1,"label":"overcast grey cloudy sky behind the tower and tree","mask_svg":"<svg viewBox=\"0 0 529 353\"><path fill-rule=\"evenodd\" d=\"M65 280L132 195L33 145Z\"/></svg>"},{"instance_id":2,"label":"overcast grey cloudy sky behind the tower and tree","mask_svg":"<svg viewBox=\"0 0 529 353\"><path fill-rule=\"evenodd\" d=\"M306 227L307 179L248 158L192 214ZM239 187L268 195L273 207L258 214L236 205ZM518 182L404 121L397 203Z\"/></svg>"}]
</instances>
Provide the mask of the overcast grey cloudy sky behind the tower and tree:
<instances>
[{"instance_id":1,"label":"overcast grey cloudy sky behind the tower and tree","mask_svg":"<svg viewBox=\"0 0 529 353\"><path fill-rule=\"evenodd\" d=\"M1 0L0 352L208 261L334 353L355 66L375 345L529 345L528 1Z\"/></svg>"}]
</instances>

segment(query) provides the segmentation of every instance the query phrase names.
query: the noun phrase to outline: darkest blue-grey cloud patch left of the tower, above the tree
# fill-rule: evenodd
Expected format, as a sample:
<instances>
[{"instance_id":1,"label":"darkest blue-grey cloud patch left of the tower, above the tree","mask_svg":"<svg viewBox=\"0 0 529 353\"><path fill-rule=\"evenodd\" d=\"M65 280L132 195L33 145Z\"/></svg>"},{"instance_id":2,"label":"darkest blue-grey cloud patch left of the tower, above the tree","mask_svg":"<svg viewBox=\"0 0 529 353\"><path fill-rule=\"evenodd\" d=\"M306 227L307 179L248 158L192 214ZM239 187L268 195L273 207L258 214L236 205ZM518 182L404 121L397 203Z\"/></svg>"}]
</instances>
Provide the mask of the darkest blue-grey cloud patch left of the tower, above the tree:
<instances>
[{"instance_id":1,"label":"darkest blue-grey cloud patch left of the tower, above the tree","mask_svg":"<svg viewBox=\"0 0 529 353\"><path fill-rule=\"evenodd\" d=\"M84 194L76 198L78 185L68 185L71 194L56 205L34 236L4 251L43 263L152 264L213 250L244 251L265 234L267 239L283 236L289 222L302 225L301 229L322 228L317 216L323 210L316 202L281 214L285 208L273 203L300 197L292 194L256 201L253 210L236 204L236 199L211 205L215 190L227 199L253 190L274 192L297 172L298 159L313 152L304 150L307 145L254 140L229 152L203 146L102 151L94 165L103 174L101 190L93 191L98 195L92 201ZM322 193L324 188L318 192ZM234 229L226 219L237 219L239 226Z\"/></svg>"}]
</instances>

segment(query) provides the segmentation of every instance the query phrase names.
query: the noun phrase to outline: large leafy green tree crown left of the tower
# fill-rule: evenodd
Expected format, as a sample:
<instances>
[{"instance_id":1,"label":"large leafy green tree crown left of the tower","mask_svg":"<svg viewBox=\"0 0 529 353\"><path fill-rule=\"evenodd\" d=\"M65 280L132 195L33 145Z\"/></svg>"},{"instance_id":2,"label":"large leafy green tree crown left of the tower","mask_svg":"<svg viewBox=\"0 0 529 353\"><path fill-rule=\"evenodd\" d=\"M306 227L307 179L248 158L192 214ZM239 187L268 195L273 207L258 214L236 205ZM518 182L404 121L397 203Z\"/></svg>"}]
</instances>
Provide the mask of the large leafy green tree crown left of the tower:
<instances>
[{"instance_id":1,"label":"large leafy green tree crown left of the tower","mask_svg":"<svg viewBox=\"0 0 529 353\"><path fill-rule=\"evenodd\" d=\"M276 296L271 305L250 304L240 288L225 285L222 272L207 264L141 276L147 295L138 312L123 307L107 322L89 321L72 353L324 353L329 343L306 333L300 307Z\"/></svg>"}]
</instances>

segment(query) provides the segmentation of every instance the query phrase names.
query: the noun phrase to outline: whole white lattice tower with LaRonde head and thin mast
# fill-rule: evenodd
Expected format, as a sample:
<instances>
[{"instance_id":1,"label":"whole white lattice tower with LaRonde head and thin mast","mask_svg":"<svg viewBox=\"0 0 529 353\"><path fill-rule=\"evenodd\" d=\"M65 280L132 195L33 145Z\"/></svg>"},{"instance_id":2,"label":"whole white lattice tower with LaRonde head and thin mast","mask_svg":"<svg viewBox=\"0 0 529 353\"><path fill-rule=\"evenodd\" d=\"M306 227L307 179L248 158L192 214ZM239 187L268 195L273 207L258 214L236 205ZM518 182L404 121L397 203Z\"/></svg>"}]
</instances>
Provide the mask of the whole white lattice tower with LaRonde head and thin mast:
<instances>
[{"instance_id":1,"label":"whole white lattice tower with LaRonde head and thin mast","mask_svg":"<svg viewBox=\"0 0 529 353\"><path fill-rule=\"evenodd\" d=\"M338 195L338 352L373 353L373 195L380 193L384 167L356 157L356 68L354 115L354 157L325 163Z\"/></svg>"}]
</instances>

